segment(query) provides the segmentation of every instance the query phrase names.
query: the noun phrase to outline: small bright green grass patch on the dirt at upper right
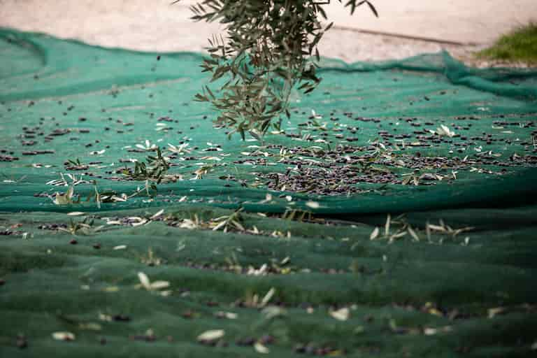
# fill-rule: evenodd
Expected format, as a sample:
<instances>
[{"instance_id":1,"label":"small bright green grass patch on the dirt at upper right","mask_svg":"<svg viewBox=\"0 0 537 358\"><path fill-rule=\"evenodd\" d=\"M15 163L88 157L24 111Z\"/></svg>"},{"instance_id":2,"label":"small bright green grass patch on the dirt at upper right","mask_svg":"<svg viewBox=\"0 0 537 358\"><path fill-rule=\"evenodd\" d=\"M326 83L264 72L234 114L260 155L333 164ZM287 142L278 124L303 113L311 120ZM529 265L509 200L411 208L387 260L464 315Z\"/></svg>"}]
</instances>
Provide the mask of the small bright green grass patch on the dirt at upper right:
<instances>
[{"instance_id":1,"label":"small bright green grass patch on the dirt at upper right","mask_svg":"<svg viewBox=\"0 0 537 358\"><path fill-rule=\"evenodd\" d=\"M478 52L478 57L537 64L537 22L501 36L492 47Z\"/></svg>"}]
</instances>

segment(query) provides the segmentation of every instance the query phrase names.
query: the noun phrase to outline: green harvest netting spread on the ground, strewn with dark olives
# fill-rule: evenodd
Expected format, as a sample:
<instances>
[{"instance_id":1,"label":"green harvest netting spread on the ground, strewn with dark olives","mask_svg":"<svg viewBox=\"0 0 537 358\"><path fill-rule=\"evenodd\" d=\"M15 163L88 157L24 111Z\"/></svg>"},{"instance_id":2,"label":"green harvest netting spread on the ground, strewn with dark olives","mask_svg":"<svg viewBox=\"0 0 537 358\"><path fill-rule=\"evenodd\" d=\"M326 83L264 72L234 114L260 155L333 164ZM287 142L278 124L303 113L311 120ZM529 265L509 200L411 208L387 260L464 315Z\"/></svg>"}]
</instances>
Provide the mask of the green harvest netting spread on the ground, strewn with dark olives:
<instances>
[{"instance_id":1,"label":"green harvest netting spread on the ground, strewn with dark olives","mask_svg":"<svg viewBox=\"0 0 537 358\"><path fill-rule=\"evenodd\" d=\"M160 55L0 32L2 357L253 357L258 339L282 357L531 355L536 71L324 59L262 143L192 101L201 55ZM131 196L145 183L121 171L152 145L168 177ZM66 173L80 203L57 205ZM244 230L211 230L239 207ZM210 329L216 347L196 342Z\"/></svg>"}]
</instances>

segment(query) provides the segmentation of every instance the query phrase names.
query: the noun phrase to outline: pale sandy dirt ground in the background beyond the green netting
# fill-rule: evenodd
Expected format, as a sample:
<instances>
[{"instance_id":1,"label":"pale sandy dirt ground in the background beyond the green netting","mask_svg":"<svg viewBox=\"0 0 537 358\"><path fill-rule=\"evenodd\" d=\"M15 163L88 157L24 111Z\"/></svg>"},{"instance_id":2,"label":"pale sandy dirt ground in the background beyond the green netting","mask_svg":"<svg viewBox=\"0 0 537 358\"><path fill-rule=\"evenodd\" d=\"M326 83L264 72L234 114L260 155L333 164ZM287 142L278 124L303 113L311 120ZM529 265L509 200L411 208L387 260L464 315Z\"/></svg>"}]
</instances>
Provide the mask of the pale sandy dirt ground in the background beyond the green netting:
<instances>
[{"instance_id":1,"label":"pale sandy dirt ground in the background beyond the green netting","mask_svg":"<svg viewBox=\"0 0 537 358\"><path fill-rule=\"evenodd\" d=\"M218 24L189 20L194 0L0 0L0 27L76 38L106 47L143 51L203 51ZM517 24L537 19L537 1L513 0L375 0L380 18L367 8L352 17L338 1L328 8L336 28L320 44L321 52L347 62L401 59L423 52L448 50L476 62L472 52ZM389 34L432 38L459 44L422 41Z\"/></svg>"}]
</instances>

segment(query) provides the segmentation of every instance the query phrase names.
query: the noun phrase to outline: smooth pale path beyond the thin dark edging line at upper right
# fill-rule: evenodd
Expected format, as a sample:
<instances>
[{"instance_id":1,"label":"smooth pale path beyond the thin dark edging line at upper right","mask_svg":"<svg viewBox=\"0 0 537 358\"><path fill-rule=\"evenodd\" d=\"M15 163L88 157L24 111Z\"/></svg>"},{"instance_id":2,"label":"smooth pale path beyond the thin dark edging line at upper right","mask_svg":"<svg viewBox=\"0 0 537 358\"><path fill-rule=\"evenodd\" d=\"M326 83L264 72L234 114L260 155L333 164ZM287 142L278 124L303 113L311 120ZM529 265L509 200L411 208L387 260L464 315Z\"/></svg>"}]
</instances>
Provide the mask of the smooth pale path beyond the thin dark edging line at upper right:
<instances>
[{"instance_id":1,"label":"smooth pale path beyond the thin dark edging line at upper right","mask_svg":"<svg viewBox=\"0 0 537 358\"><path fill-rule=\"evenodd\" d=\"M346 2L346 1L345 1ZM438 38L461 43L491 43L513 26L537 21L536 0L371 0L355 15L332 1L327 11L336 24L358 29Z\"/></svg>"}]
</instances>

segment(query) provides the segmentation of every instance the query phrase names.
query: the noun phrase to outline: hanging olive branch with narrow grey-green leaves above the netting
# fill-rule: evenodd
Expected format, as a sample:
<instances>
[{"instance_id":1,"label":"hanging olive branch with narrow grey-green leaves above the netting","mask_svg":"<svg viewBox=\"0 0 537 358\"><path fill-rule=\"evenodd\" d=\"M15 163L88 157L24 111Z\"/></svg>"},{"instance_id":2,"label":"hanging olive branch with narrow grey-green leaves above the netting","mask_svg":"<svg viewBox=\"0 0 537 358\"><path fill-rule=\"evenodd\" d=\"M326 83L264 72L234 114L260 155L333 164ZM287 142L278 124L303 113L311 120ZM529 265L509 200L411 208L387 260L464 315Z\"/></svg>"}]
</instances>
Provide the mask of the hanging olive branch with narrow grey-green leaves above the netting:
<instances>
[{"instance_id":1,"label":"hanging olive branch with narrow grey-green leaves above the netting","mask_svg":"<svg viewBox=\"0 0 537 358\"><path fill-rule=\"evenodd\" d=\"M174 3L180 0L174 1ZM338 0L341 2L341 0ZM315 0L203 0L191 6L194 21L221 22L227 36L209 39L210 57L203 60L211 82L220 80L220 90L208 85L196 94L197 101L210 102L219 115L220 127L229 134L245 132L263 136L275 117L289 114L289 96L295 86L312 92L322 78L317 76L322 36L332 27L323 8L330 3ZM369 1L350 0L355 9ZM278 124L279 124L278 122ZM274 123L278 128L278 124Z\"/></svg>"}]
</instances>

